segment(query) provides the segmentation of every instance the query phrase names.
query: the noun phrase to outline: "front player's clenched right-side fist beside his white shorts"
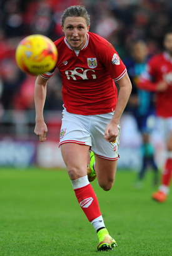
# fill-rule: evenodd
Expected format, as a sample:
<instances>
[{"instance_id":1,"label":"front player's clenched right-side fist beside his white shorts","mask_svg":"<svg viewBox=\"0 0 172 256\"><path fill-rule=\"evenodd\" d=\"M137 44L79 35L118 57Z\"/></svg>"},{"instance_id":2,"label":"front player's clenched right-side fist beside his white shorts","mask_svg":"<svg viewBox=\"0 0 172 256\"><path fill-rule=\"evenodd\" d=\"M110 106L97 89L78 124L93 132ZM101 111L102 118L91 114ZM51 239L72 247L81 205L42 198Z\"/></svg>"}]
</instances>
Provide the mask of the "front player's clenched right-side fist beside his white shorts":
<instances>
[{"instance_id":1,"label":"front player's clenched right-side fist beside his white shorts","mask_svg":"<svg viewBox=\"0 0 172 256\"><path fill-rule=\"evenodd\" d=\"M109 142L115 142L116 137L118 136L118 124L113 124L112 121L106 125L106 129L104 132L104 139Z\"/></svg>"}]
</instances>

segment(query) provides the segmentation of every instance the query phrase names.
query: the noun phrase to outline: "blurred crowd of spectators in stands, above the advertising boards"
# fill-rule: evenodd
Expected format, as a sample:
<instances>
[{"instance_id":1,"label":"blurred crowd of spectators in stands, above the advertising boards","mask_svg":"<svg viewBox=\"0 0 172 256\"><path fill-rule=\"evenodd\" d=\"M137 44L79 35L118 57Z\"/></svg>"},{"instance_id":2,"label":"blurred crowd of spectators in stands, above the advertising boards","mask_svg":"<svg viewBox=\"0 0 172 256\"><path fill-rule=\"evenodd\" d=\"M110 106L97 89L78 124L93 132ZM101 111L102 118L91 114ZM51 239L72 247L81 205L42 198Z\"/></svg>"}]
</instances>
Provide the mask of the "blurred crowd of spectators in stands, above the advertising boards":
<instances>
[{"instance_id":1,"label":"blurred crowd of spectators in stands, above the advertising boards","mask_svg":"<svg viewBox=\"0 0 172 256\"><path fill-rule=\"evenodd\" d=\"M86 6L93 33L110 41L126 60L131 42L146 43L148 55L163 49L164 29L172 28L171 0L1 0L0 8L0 110L34 109L36 77L21 72L15 50L25 36L41 34L55 41L63 36L61 14L74 4ZM61 77L56 70L48 82L46 110L61 110Z\"/></svg>"}]
</instances>

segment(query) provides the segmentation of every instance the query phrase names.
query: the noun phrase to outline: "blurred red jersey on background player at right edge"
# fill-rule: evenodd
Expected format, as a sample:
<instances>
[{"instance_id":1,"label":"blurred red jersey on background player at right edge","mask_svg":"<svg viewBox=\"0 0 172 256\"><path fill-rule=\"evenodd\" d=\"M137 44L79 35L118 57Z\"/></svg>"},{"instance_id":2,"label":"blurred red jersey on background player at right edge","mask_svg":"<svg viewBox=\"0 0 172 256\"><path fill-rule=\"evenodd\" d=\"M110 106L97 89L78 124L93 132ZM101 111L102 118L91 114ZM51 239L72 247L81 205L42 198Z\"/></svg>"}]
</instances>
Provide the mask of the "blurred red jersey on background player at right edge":
<instances>
[{"instance_id":1,"label":"blurred red jersey on background player at right edge","mask_svg":"<svg viewBox=\"0 0 172 256\"><path fill-rule=\"evenodd\" d=\"M156 85L162 80L166 80L169 87L165 92L156 92ZM149 60L138 86L156 92L156 112L159 117L172 117L172 58L168 53L161 53Z\"/></svg>"}]
</instances>

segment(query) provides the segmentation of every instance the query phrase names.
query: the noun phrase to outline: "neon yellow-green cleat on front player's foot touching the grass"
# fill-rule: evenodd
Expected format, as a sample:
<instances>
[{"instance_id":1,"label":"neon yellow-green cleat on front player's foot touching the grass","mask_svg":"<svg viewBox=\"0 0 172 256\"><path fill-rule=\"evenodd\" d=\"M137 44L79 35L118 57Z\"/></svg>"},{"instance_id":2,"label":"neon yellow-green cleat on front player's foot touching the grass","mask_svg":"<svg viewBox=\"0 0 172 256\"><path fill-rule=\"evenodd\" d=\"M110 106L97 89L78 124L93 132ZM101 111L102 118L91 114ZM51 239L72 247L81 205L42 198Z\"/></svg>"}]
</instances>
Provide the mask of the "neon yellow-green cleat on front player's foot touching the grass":
<instances>
[{"instance_id":1,"label":"neon yellow-green cleat on front player's foot touching the grass","mask_svg":"<svg viewBox=\"0 0 172 256\"><path fill-rule=\"evenodd\" d=\"M113 247L117 246L115 240L109 235L106 228L102 228L98 232L99 244L98 251L113 250Z\"/></svg>"}]
</instances>

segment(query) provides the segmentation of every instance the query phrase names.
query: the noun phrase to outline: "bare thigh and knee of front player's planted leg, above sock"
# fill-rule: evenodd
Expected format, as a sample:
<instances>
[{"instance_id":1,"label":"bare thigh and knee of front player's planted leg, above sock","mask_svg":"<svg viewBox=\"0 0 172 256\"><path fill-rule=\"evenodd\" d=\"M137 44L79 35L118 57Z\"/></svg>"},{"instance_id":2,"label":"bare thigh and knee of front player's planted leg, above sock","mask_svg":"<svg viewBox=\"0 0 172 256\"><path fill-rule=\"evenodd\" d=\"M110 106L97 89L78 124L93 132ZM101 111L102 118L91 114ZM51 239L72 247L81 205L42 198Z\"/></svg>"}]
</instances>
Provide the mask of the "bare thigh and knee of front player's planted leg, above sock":
<instances>
[{"instance_id":1,"label":"bare thigh and knee of front player's planted leg, above sock","mask_svg":"<svg viewBox=\"0 0 172 256\"><path fill-rule=\"evenodd\" d=\"M61 145L61 154L67 166L69 177L74 180L86 176L89 146L76 143Z\"/></svg>"}]
</instances>

